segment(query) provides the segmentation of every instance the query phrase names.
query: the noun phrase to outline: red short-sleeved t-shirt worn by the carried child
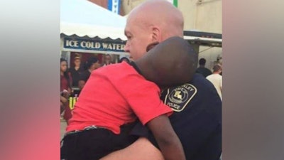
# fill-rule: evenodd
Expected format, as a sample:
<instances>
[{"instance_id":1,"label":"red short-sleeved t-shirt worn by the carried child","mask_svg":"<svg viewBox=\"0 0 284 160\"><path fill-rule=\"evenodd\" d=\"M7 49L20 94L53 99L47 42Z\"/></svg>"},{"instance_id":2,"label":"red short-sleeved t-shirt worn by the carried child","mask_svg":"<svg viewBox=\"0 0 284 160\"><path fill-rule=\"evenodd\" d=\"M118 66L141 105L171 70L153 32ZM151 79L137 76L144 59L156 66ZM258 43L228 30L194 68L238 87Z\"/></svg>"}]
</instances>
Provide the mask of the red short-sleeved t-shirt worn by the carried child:
<instances>
[{"instance_id":1,"label":"red short-sleeved t-shirt worn by the carried child","mask_svg":"<svg viewBox=\"0 0 284 160\"><path fill-rule=\"evenodd\" d=\"M67 132L96 125L115 134L136 116L146 124L173 110L160 100L160 89L128 63L107 65L94 70L75 104Z\"/></svg>"}]
</instances>

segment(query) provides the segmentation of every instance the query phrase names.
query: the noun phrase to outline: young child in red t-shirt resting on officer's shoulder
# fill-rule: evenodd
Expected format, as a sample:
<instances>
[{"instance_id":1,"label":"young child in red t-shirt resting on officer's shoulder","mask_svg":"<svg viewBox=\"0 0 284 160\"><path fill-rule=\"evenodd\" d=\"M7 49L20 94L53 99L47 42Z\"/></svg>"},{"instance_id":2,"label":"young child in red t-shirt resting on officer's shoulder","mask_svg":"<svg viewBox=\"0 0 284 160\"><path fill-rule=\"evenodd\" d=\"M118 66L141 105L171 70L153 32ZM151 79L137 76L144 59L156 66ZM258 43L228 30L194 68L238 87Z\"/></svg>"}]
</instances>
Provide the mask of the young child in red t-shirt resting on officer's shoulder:
<instances>
[{"instance_id":1,"label":"young child in red t-shirt resting on officer's shoulder","mask_svg":"<svg viewBox=\"0 0 284 160\"><path fill-rule=\"evenodd\" d=\"M165 159L185 159L170 125L173 113L160 100L160 88L191 80L197 54L187 41L173 37L131 63L94 70L80 93L61 147L61 159L94 160L123 149L137 120L155 135Z\"/></svg>"}]
</instances>

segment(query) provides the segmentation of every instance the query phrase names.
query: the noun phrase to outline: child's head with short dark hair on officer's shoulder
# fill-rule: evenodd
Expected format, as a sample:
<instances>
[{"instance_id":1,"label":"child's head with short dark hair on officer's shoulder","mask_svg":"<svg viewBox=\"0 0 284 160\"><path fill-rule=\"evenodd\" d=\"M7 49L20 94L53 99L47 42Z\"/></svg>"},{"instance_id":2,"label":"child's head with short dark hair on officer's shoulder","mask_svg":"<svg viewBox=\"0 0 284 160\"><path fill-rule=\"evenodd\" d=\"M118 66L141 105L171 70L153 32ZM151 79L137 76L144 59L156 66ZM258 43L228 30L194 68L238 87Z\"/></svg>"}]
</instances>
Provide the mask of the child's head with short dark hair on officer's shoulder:
<instances>
[{"instance_id":1,"label":"child's head with short dark hair on officer's shoulder","mask_svg":"<svg viewBox=\"0 0 284 160\"><path fill-rule=\"evenodd\" d=\"M134 63L147 80L160 87L170 87L182 85L192 79L198 55L183 38L172 37L151 46L148 53Z\"/></svg>"}]
</instances>

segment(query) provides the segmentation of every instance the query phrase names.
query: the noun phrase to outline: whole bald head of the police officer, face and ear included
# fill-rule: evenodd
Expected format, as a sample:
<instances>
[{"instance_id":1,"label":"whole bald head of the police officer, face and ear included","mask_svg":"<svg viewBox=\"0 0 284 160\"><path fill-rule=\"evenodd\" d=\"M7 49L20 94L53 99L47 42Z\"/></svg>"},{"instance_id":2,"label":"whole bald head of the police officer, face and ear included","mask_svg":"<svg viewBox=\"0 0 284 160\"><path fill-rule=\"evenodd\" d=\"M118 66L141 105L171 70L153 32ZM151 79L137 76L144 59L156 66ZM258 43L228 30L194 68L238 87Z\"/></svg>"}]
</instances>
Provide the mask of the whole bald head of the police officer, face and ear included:
<instances>
[{"instance_id":1,"label":"whole bald head of the police officer, face and ear included","mask_svg":"<svg viewBox=\"0 0 284 160\"><path fill-rule=\"evenodd\" d=\"M149 0L134 8L127 18L124 50L133 60L146 53L151 43L160 43L173 36L183 37L182 13L165 0Z\"/></svg>"}]
</instances>

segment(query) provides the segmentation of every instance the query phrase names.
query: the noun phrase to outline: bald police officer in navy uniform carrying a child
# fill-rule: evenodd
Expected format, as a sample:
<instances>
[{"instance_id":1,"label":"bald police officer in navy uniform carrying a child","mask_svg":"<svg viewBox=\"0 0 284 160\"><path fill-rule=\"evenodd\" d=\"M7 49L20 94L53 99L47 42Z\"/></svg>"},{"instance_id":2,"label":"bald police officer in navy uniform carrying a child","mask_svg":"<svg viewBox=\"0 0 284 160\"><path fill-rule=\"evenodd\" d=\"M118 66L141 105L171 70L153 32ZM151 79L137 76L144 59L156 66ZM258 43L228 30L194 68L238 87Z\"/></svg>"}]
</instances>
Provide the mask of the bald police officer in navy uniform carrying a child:
<instances>
[{"instance_id":1,"label":"bald police officer in navy uniform carrying a child","mask_svg":"<svg viewBox=\"0 0 284 160\"><path fill-rule=\"evenodd\" d=\"M133 60L138 60L146 53L148 44L160 43L171 36L182 38L183 23L182 13L168 1L145 1L129 14L124 50ZM222 102L212 83L195 74L184 85L165 88L160 98L174 111L169 118L186 159L219 159L222 152ZM137 124L133 134L141 138L101 160L164 159L153 134L146 130L143 125Z\"/></svg>"}]
</instances>

